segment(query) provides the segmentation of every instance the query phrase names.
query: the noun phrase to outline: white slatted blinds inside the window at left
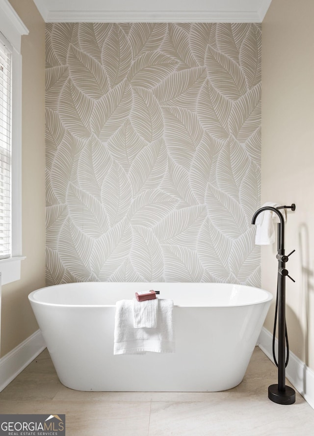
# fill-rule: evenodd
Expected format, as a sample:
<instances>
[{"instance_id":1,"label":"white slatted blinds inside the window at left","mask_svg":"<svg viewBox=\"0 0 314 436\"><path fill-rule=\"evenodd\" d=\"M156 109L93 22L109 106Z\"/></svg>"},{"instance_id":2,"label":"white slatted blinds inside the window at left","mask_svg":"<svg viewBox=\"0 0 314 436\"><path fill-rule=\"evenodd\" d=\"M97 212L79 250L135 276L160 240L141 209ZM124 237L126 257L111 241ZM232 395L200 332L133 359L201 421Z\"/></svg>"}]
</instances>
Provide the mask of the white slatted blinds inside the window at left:
<instances>
[{"instance_id":1,"label":"white slatted blinds inside the window at left","mask_svg":"<svg viewBox=\"0 0 314 436\"><path fill-rule=\"evenodd\" d=\"M2 36L2 35L0 35ZM0 38L0 259L11 256L11 51Z\"/></svg>"}]
</instances>

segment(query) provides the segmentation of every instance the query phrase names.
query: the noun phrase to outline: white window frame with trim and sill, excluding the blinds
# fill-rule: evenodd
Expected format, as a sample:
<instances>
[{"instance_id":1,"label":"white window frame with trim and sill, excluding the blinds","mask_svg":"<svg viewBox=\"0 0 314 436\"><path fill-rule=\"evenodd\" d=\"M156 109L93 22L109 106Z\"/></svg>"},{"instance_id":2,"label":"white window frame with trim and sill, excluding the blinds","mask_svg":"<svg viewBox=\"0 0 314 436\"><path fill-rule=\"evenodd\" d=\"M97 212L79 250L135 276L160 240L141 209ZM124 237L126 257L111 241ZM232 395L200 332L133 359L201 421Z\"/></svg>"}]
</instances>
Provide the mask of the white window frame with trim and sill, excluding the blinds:
<instances>
[{"instance_id":1,"label":"white window frame with trim and sill, excluding the blinds","mask_svg":"<svg viewBox=\"0 0 314 436\"><path fill-rule=\"evenodd\" d=\"M12 47L12 227L11 257L0 259L1 284L21 278L22 256L22 55L21 37L28 29L10 5L0 0L0 32Z\"/></svg>"}]
</instances>

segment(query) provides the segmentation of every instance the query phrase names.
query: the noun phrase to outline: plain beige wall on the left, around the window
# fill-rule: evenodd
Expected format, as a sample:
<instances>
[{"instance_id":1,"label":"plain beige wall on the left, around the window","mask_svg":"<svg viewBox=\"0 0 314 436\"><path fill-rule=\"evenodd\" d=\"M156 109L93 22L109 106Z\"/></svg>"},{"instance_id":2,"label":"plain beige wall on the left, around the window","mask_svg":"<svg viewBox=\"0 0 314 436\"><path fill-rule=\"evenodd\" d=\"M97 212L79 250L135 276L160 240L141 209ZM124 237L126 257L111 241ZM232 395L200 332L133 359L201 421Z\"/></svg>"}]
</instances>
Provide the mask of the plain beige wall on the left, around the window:
<instances>
[{"instance_id":1,"label":"plain beige wall on the left, around the window","mask_svg":"<svg viewBox=\"0 0 314 436\"><path fill-rule=\"evenodd\" d=\"M1 356L38 326L28 304L30 291L45 285L45 24L32 0L10 0L29 30L22 37L23 132L21 280L2 286Z\"/></svg>"}]
</instances>

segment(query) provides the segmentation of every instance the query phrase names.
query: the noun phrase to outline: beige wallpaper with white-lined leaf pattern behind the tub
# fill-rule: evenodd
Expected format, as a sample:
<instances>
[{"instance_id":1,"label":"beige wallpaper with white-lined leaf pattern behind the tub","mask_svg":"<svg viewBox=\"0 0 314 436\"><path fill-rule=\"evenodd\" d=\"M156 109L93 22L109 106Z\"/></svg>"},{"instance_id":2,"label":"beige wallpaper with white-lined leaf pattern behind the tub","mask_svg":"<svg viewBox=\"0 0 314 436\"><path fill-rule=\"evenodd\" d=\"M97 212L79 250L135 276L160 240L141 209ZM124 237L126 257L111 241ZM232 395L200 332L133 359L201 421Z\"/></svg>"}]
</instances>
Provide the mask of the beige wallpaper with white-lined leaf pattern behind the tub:
<instances>
[{"instance_id":1,"label":"beige wallpaper with white-lined leaf pattern behind the tub","mask_svg":"<svg viewBox=\"0 0 314 436\"><path fill-rule=\"evenodd\" d=\"M259 24L46 27L47 284L260 284Z\"/></svg>"}]
</instances>

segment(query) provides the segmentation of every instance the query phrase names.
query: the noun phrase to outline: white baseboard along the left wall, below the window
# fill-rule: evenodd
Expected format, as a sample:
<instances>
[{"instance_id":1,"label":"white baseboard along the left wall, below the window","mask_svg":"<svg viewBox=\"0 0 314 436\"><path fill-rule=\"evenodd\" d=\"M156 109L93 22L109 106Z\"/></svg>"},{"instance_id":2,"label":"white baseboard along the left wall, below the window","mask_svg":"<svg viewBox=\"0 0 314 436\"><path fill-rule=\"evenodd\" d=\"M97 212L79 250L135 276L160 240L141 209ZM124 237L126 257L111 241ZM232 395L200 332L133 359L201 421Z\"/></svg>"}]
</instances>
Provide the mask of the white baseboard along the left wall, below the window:
<instances>
[{"instance_id":1,"label":"white baseboard along the left wall, below the window","mask_svg":"<svg viewBox=\"0 0 314 436\"><path fill-rule=\"evenodd\" d=\"M3 356L0 359L0 392L45 348L44 338L40 330L37 330L37 332Z\"/></svg>"}]
</instances>

